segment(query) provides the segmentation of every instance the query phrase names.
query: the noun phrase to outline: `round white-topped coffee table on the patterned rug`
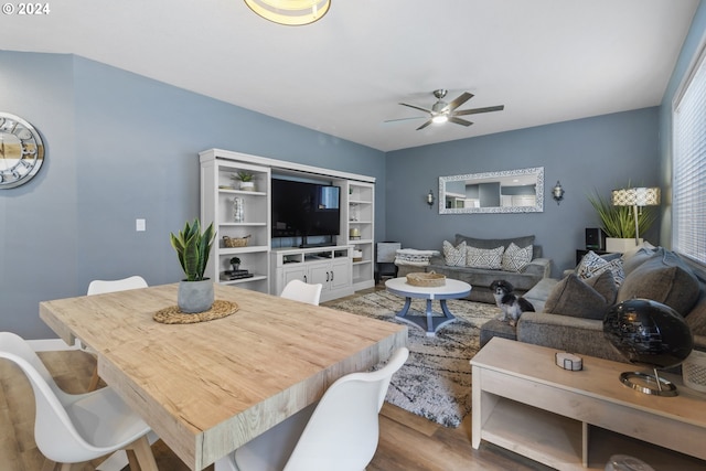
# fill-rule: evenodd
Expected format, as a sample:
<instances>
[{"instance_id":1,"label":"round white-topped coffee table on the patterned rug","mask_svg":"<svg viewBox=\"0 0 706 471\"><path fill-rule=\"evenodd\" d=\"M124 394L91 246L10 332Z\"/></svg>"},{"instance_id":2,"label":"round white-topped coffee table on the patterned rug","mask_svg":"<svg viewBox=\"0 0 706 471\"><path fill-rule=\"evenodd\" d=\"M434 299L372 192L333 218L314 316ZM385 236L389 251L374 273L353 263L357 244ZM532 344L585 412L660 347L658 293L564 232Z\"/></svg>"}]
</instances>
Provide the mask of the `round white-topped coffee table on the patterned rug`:
<instances>
[{"instance_id":1,"label":"round white-topped coffee table on the patterned rug","mask_svg":"<svg viewBox=\"0 0 706 471\"><path fill-rule=\"evenodd\" d=\"M407 283L407 278L393 278L385 281L385 288L393 295L405 298L405 306L397 312L395 319L421 328L428 336L434 336L439 329L456 320L456 315L446 306L446 300L464 298L471 293L469 283L449 278L447 278L446 285L440 287L414 286ZM426 315L407 315L413 298L427 300ZM434 315L431 301L435 299L439 300L443 315Z\"/></svg>"}]
</instances>

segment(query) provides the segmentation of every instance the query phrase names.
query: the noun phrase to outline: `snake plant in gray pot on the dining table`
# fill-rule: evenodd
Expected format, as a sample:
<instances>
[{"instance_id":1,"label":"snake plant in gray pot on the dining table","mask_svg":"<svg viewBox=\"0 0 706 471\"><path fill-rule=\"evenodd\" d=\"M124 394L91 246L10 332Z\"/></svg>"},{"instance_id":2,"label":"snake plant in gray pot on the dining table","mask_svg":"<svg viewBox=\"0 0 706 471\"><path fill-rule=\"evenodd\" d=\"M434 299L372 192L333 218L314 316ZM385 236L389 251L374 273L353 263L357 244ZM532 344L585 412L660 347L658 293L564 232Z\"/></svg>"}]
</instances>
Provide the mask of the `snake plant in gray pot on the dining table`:
<instances>
[{"instance_id":1,"label":"snake plant in gray pot on the dining table","mask_svg":"<svg viewBox=\"0 0 706 471\"><path fill-rule=\"evenodd\" d=\"M197 218L191 224L186 222L178 235L170 234L172 247L186 276L179 283L176 303L181 312L203 312L213 306L213 281L204 277L204 272L214 239L213 223L202 233Z\"/></svg>"}]
</instances>

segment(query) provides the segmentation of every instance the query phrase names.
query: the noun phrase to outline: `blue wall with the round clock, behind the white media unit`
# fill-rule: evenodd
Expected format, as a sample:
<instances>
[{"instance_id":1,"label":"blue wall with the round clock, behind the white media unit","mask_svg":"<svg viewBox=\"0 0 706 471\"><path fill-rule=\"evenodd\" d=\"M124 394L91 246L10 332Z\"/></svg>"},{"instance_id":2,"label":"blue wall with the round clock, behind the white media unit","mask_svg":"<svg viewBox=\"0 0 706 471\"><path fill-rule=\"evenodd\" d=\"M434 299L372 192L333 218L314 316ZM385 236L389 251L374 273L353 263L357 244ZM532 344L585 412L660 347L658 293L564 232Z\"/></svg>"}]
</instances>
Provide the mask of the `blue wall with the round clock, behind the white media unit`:
<instances>
[{"instance_id":1,"label":"blue wall with the round clock, behind the white media unit","mask_svg":"<svg viewBox=\"0 0 706 471\"><path fill-rule=\"evenodd\" d=\"M199 215L205 149L375 176L385 234L383 152L73 55L0 51L0 109L36 126L47 157L0 192L2 331L55 336L39 302L84 295L92 279L178 281L169 233Z\"/></svg>"}]
</instances>

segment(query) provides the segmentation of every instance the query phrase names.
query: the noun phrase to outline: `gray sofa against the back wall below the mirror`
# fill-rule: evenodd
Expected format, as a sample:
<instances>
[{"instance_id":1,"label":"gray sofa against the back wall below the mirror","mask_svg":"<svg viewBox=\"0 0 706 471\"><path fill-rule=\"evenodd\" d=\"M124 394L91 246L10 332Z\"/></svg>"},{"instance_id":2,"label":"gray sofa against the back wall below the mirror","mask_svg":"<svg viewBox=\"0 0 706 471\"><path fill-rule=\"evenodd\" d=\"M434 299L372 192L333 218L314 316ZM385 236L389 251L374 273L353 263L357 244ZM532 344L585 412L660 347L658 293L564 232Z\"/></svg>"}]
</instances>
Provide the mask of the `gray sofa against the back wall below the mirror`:
<instances>
[{"instance_id":1,"label":"gray sofa against the back wall below the mirror","mask_svg":"<svg viewBox=\"0 0 706 471\"><path fill-rule=\"evenodd\" d=\"M431 257L430 264L426 267L399 266L397 276L405 277L414 271L435 271L445 275L447 278L466 281L471 285L471 293L467 299L471 301L495 303L493 293L490 290L490 283L496 279L505 279L515 288L518 296L524 295L537 285L542 279L547 278L550 274L552 260L542 258L542 247L534 245L534 236L504 238L504 239L483 239L457 234L453 246L458 247L461 243L466 243L467 247L479 249L494 249L500 246L504 250L514 244L515 247L526 248L532 246L532 260L521 268L518 271L506 269L489 269L474 268L470 266L449 266L443 255ZM441 251L443 254L443 250Z\"/></svg>"}]
</instances>

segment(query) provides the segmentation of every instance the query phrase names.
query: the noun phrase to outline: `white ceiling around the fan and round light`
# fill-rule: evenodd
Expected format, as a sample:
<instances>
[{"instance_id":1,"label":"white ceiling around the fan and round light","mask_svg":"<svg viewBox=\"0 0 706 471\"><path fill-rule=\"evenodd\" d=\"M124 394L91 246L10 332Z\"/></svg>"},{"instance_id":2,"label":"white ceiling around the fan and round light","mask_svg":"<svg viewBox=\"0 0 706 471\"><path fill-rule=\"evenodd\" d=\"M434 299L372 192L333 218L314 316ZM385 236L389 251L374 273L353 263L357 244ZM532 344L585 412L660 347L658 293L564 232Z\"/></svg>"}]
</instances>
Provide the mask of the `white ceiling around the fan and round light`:
<instances>
[{"instance_id":1,"label":"white ceiling around the fan and round light","mask_svg":"<svg viewBox=\"0 0 706 471\"><path fill-rule=\"evenodd\" d=\"M242 0L61 0L0 47L73 53L383 151L659 105L698 0L332 0L307 26ZM1 72L0 72L1 75ZM431 92L473 115L422 116Z\"/></svg>"}]
</instances>

